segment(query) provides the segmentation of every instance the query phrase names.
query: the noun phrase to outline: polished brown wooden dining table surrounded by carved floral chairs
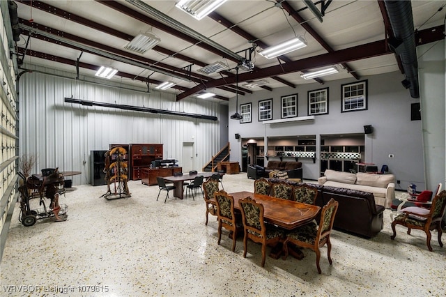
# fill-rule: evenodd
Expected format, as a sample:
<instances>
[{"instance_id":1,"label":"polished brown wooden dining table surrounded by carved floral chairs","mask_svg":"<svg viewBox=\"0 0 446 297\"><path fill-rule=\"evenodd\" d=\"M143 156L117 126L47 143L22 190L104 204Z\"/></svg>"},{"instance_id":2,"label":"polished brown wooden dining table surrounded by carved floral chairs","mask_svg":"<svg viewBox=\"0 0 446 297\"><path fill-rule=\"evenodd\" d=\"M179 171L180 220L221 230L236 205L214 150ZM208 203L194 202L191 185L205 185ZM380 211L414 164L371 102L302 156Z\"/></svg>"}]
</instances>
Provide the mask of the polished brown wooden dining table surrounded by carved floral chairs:
<instances>
[{"instance_id":1,"label":"polished brown wooden dining table surrounded by carved floral chairs","mask_svg":"<svg viewBox=\"0 0 446 297\"><path fill-rule=\"evenodd\" d=\"M316 218L316 215L321 210L321 207L313 204L305 204L293 200L256 194L249 191L232 192L229 195L234 198L234 208L236 208L238 211L241 211L238 201L246 197L252 197L252 199L254 199L257 203L261 203L263 205L263 219L266 222L288 230L292 230L296 227L312 222L312 220ZM272 248L270 257L278 259L282 252L283 245L282 243L279 243ZM296 250L295 248L291 248L290 252L297 259L303 258L302 252L298 249Z\"/></svg>"}]
</instances>

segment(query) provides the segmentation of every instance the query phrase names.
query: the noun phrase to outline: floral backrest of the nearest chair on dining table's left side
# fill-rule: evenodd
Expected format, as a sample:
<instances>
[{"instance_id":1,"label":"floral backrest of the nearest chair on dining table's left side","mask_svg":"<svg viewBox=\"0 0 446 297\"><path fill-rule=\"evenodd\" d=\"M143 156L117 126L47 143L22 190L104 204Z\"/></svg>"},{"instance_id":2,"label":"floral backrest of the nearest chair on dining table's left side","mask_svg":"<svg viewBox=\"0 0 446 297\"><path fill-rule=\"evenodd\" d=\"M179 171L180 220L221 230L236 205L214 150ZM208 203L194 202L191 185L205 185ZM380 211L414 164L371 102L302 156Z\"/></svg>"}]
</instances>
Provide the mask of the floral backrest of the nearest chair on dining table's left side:
<instances>
[{"instance_id":1,"label":"floral backrest of the nearest chair on dining table's left side","mask_svg":"<svg viewBox=\"0 0 446 297\"><path fill-rule=\"evenodd\" d=\"M242 212L242 223L245 234L249 233L260 238L266 238L266 226L263 220L263 204L257 203L252 197L238 201Z\"/></svg>"}]
</instances>

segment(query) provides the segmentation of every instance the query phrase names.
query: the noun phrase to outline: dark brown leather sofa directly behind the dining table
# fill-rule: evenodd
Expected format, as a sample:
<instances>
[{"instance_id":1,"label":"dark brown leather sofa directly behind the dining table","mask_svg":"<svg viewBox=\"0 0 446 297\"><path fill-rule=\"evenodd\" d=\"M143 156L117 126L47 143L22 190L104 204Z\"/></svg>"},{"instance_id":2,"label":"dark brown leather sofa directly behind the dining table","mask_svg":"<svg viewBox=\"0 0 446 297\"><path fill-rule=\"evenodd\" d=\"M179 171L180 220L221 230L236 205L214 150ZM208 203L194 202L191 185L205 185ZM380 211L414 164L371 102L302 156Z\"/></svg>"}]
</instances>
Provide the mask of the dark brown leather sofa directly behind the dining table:
<instances>
[{"instance_id":1,"label":"dark brown leather sofa directly behind the dining table","mask_svg":"<svg viewBox=\"0 0 446 297\"><path fill-rule=\"evenodd\" d=\"M283 182L283 179L270 178L272 183ZM286 181L291 185L300 185L294 181ZM339 202L334 218L334 229L371 238L376 236L384 227L384 206L376 205L371 192L363 192L346 188L330 187L307 183L318 188L315 204L323 207L331 198ZM319 217L316 220L319 222Z\"/></svg>"}]
</instances>

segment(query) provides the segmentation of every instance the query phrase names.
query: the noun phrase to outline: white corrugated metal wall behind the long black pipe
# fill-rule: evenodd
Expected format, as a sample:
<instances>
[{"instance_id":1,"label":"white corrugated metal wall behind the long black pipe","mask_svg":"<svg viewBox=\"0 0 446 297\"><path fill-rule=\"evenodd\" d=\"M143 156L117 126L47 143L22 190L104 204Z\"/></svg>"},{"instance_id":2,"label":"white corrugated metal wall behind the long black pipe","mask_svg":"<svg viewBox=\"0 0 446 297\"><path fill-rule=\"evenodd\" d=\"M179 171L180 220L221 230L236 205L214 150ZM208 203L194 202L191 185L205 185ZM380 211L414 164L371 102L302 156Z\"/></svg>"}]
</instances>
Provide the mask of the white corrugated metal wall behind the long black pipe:
<instances>
[{"instance_id":1,"label":"white corrugated metal wall behind the long black pipe","mask_svg":"<svg viewBox=\"0 0 446 297\"><path fill-rule=\"evenodd\" d=\"M133 91L130 88L137 88L125 84L105 86L100 81L95 84L85 82L82 77L75 79L72 73L32 65L24 67L34 71L22 75L18 84L20 154L38 155L36 172L52 167L80 171L81 175L72 176L72 183L89 183L90 151L107 150L109 144L164 144L164 158L176 158L181 165L183 142L194 143L194 169L201 170L222 146L220 121L83 106L64 102L64 98L167 109L220 119L220 105L215 102L195 98L176 102L171 93Z\"/></svg>"}]
</instances>

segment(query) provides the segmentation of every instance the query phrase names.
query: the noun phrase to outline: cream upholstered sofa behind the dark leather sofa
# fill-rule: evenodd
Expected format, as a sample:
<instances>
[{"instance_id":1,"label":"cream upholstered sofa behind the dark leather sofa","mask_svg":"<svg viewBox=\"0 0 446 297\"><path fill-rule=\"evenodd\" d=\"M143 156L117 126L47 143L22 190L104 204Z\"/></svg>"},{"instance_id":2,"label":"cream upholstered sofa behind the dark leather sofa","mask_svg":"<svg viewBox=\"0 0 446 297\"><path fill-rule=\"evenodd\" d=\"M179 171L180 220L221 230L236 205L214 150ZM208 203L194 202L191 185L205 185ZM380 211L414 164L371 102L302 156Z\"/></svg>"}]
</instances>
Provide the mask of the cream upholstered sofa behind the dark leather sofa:
<instances>
[{"instance_id":1,"label":"cream upholstered sofa behind the dark leather sofa","mask_svg":"<svg viewBox=\"0 0 446 297\"><path fill-rule=\"evenodd\" d=\"M368 174L358 172L337 172L325 170L324 176L318 178L320 185L348 188L371 192L374 194L376 204L390 208L395 198L395 177L393 174Z\"/></svg>"}]
</instances>

